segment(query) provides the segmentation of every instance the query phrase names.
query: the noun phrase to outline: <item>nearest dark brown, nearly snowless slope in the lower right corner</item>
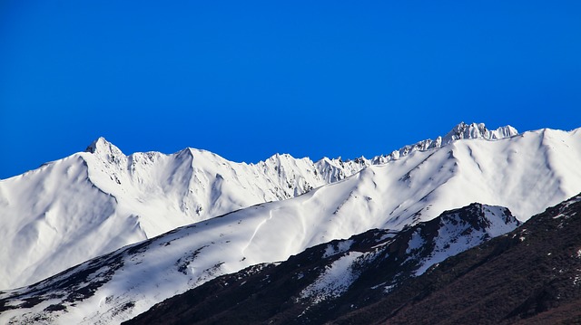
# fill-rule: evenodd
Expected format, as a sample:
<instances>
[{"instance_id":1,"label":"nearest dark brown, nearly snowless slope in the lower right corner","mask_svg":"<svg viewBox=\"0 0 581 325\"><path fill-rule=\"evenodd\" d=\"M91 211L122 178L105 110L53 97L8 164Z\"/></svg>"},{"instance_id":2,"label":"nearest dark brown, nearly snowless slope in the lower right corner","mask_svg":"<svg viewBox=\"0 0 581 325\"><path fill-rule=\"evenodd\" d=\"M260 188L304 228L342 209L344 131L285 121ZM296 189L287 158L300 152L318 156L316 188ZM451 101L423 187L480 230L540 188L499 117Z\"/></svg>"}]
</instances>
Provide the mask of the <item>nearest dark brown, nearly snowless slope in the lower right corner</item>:
<instances>
[{"instance_id":1,"label":"nearest dark brown, nearly snowless slope in the lower right corner","mask_svg":"<svg viewBox=\"0 0 581 325\"><path fill-rule=\"evenodd\" d=\"M581 323L581 196L333 322Z\"/></svg>"}]
</instances>

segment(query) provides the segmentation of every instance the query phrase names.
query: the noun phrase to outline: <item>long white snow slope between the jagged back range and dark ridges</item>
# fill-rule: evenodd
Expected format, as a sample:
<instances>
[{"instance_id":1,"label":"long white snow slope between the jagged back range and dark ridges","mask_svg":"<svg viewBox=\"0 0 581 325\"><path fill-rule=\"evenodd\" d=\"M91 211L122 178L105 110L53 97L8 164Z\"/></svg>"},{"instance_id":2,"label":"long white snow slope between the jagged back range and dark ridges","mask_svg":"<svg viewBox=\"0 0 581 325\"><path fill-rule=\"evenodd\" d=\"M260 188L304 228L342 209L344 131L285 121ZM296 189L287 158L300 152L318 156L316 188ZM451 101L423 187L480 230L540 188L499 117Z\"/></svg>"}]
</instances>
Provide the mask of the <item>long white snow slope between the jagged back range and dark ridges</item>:
<instances>
[{"instance_id":1,"label":"long white snow slope between the jagged back range and dark ridges","mask_svg":"<svg viewBox=\"0 0 581 325\"><path fill-rule=\"evenodd\" d=\"M177 229L147 242L143 250L120 250L115 254L126 256L122 266L94 296L50 317L57 317L55 323L118 323L218 275L282 261L314 244L370 228L399 230L472 202L507 206L525 221L581 192L579 166L581 129L541 129L496 141L463 139L414 151L302 196ZM127 253L131 249L137 252ZM5 292L0 299L29 290ZM33 320L51 303L5 311L0 322Z\"/></svg>"}]
</instances>

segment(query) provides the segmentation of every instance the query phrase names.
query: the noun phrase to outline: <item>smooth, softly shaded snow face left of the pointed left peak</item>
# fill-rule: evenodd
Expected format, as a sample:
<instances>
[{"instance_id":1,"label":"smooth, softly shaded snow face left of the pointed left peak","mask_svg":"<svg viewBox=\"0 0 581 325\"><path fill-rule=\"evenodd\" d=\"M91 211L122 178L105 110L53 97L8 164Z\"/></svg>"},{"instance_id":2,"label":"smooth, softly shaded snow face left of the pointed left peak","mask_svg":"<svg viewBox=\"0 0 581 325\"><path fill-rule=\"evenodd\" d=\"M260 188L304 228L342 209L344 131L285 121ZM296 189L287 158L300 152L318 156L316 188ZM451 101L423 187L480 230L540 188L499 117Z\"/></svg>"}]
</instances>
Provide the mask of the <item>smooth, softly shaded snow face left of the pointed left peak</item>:
<instances>
[{"instance_id":1,"label":"smooth, softly shaded snow face left of the pointed left peak","mask_svg":"<svg viewBox=\"0 0 581 325\"><path fill-rule=\"evenodd\" d=\"M3 181L0 197L3 288L145 238L137 217L120 217L115 197L89 181L79 155Z\"/></svg>"}]
</instances>

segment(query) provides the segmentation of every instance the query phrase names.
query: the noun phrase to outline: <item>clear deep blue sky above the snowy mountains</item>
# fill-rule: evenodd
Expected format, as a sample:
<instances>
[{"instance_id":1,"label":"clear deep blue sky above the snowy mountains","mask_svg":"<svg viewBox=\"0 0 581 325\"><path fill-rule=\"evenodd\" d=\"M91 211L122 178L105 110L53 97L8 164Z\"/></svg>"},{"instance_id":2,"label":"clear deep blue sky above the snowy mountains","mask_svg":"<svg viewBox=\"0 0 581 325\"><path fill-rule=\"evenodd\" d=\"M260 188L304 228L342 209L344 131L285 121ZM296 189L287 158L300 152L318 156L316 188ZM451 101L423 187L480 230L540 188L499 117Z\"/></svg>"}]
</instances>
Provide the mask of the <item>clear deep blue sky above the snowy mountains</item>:
<instances>
[{"instance_id":1,"label":"clear deep blue sky above the snowy mountains","mask_svg":"<svg viewBox=\"0 0 581 325\"><path fill-rule=\"evenodd\" d=\"M0 178L82 151L372 157L581 127L581 1L0 2Z\"/></svg>"}]
</instances>

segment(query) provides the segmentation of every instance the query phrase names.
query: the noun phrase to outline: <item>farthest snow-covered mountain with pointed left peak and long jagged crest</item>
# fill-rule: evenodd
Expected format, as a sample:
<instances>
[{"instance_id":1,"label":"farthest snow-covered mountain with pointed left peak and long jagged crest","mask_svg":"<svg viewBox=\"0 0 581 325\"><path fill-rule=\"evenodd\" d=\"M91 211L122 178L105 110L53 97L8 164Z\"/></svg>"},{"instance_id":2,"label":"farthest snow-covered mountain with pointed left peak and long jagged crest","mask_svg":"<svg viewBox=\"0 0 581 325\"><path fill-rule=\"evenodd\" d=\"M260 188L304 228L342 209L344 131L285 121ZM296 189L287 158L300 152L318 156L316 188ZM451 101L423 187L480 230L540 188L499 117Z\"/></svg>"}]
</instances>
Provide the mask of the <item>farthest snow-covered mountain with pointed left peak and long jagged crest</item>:
<instances>
[{"instance_id":1,"label":"farthest snow-covered mountain with pointed left peak and long jagged crest","mask_svg":"<svg viewBox=\"0 0 581 325\"><path fill-rule=\"evenodd\" d=\"M123 152L97 139L85 152L0 180L0 288L40 281L76 263L175 227L300 196L364 167L387 163L456 139L515 136L460 123L444 138L420 141L388 156L349 161L275 155L234 163L186 148L172 155ZM329 237L327 237L329 238Z\"/></svg>"}]
</instances>

